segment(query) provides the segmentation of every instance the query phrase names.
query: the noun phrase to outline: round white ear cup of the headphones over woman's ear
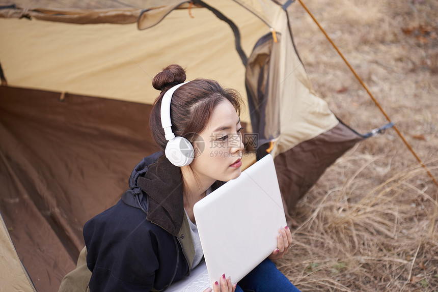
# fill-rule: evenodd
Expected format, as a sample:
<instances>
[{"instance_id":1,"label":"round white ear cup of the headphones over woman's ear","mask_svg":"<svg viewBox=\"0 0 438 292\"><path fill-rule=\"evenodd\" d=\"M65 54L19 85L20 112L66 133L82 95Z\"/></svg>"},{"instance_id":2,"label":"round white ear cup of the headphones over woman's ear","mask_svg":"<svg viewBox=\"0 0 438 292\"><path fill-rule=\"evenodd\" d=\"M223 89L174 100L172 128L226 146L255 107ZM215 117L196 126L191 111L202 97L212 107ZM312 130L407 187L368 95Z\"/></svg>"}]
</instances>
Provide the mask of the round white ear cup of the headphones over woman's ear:
<instances>
[{"instance_id":1,"label":"round white ear cup of the headphones over woman's ear","mask_svg":"<svg viewBox=\"0 0 438 292\"><path fill-rule=\"evenodd\" d=\"M195 157L193 145L184 137L175 137L166 144L167 159L176 166L189 165Z\"/></svg>"}]
</instances>

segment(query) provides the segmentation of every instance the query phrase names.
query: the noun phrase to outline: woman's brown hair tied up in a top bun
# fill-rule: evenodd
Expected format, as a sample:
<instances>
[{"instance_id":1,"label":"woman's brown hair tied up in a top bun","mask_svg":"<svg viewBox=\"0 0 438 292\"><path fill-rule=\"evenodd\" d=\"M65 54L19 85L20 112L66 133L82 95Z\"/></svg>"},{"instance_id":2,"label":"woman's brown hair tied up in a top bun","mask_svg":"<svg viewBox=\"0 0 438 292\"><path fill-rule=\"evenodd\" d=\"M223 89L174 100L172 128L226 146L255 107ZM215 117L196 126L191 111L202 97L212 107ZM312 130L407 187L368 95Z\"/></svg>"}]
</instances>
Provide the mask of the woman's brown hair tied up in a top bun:
<instances>
[{"instance_id":1,"label":"woman's brown hair tied up in a top bun","mask_svg":"<svg viewBox=\"0 0 438 292\"><path fill-rule=\"evenodd\" d=\"M185 70L181 66L169 65L152 80L152 86L161 93L153 104L149 124L152 136L162 151L166 149L167 140L161 127L161 99L167 90L184 82L185 78ZM170 109L175 136L185 137L193 144L197 134L207 126L216 105L224 99L229 100L240 114L240 94L233 89L224 89L214 80L197 78L179 87L172 96Z\"/></svg>"}]
</instances>

